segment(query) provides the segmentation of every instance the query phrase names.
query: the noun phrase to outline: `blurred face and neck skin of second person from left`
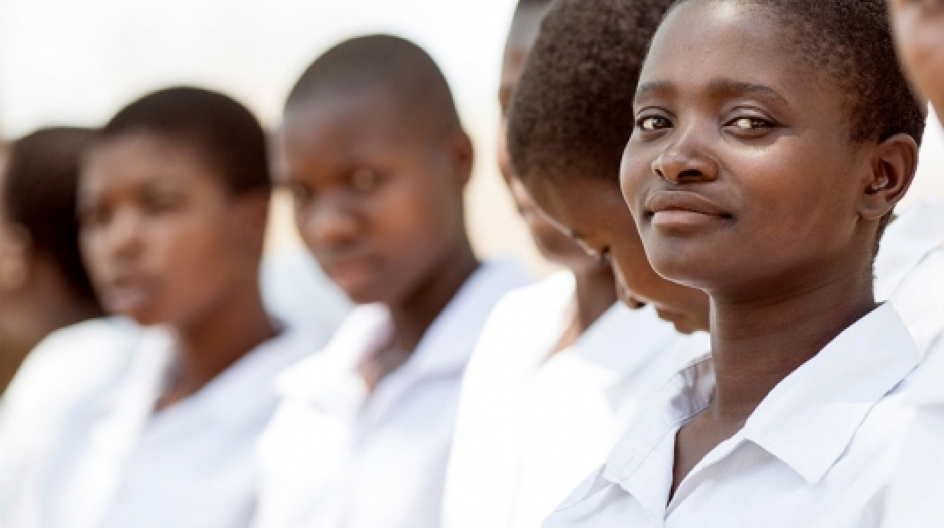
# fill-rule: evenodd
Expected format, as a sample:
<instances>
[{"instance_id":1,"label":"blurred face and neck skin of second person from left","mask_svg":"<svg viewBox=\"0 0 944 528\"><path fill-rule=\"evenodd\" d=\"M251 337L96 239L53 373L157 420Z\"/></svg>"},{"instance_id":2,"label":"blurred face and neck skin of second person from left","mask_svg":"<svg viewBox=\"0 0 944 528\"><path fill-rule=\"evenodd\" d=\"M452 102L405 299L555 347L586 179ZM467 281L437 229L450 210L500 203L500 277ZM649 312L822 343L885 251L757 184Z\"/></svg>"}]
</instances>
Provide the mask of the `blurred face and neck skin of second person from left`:
<instances>
[{"instance_id":1,"label":"blurred face and neck skin of second person from left","mask_svg":"<svg viewBox=\"0 0 944 528\"><path fill-rule=\"evenodd\" d=\"M177 331L159 410L278 335L258 283L268 193L233 196L215 170L185 143L131 135L94 148L79 185L82 252L106 309Z\"/></svg>"}]
</instances>

